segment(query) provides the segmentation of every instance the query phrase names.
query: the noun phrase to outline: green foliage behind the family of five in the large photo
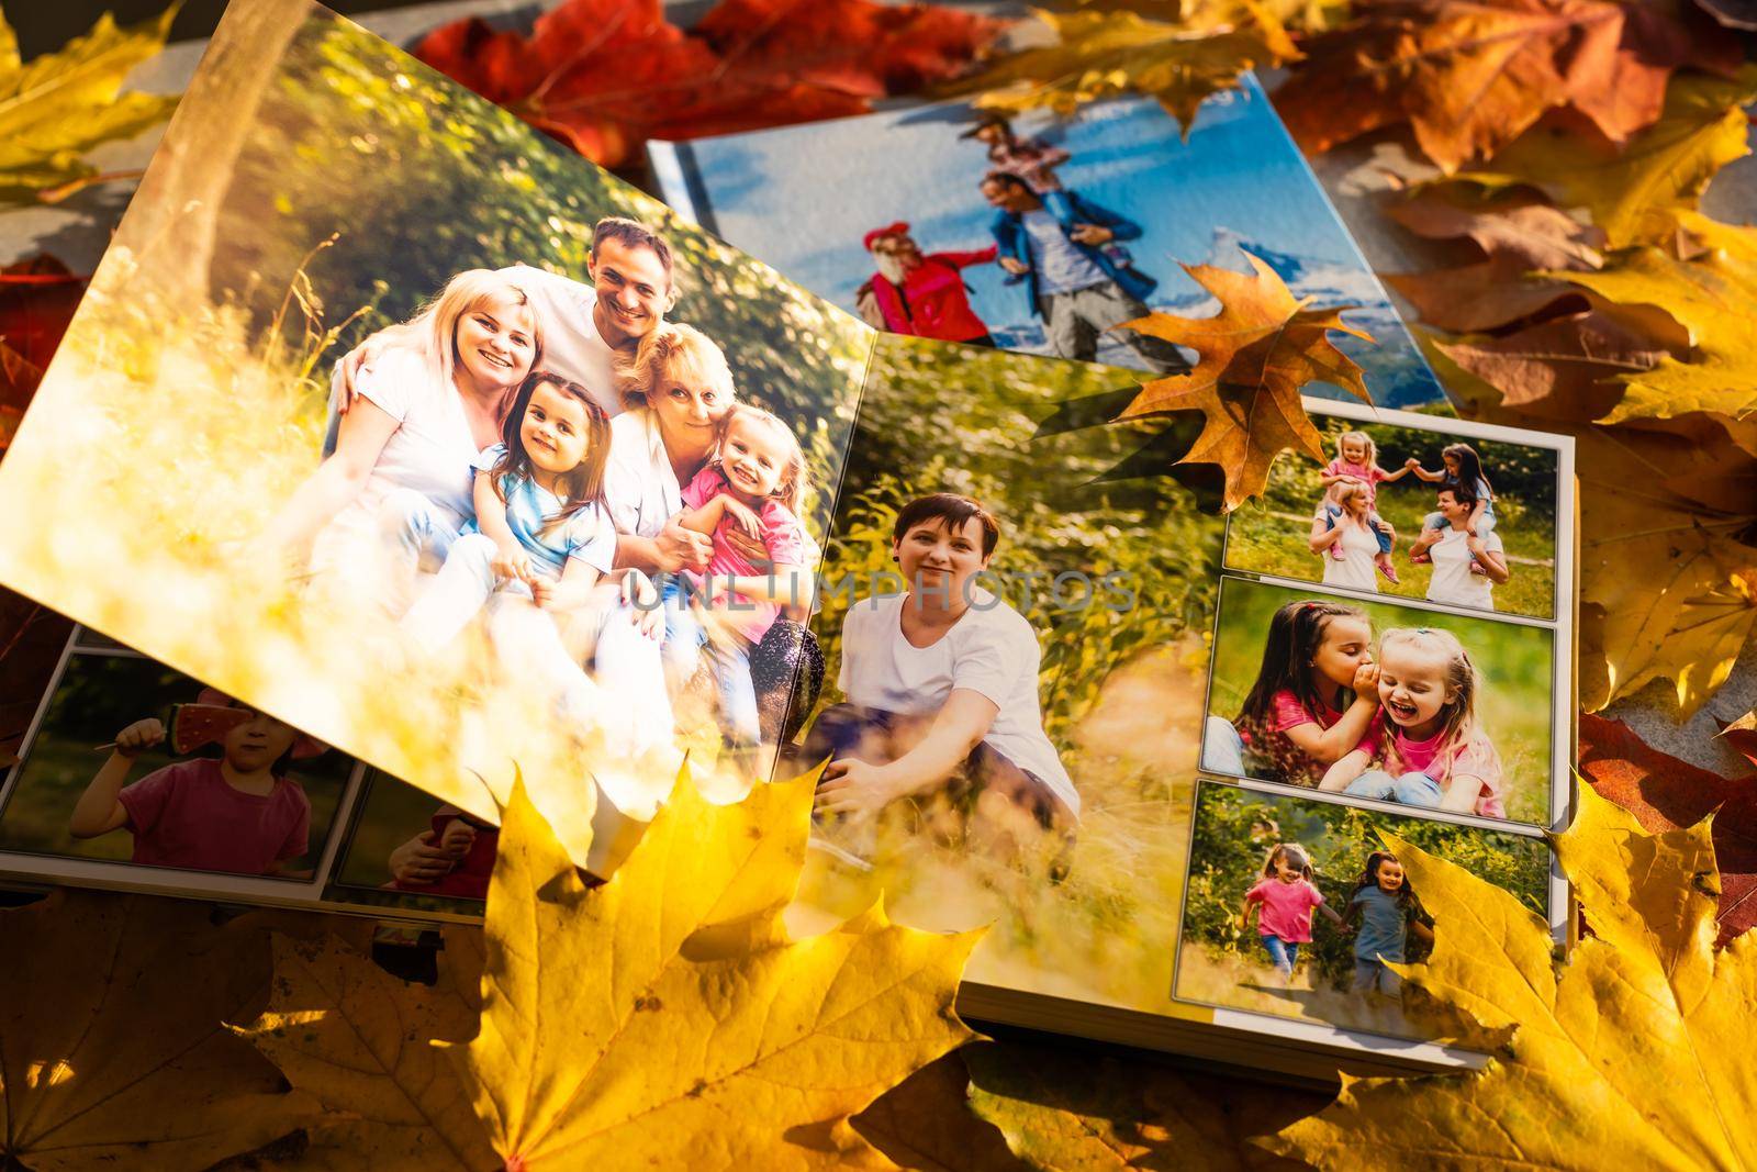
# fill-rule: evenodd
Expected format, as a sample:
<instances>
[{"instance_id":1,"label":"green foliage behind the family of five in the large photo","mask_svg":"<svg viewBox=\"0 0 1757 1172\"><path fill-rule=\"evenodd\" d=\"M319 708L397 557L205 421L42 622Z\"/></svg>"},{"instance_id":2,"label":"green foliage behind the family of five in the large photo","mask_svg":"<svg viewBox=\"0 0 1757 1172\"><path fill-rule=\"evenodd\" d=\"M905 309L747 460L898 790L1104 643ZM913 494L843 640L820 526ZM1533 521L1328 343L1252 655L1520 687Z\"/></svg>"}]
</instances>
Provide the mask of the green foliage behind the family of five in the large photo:
<instances>
[{"instance_id":1,"label":"green foliage behind the family of five in the large photo","mask_svg":"<svg viewBox=\"0 0 1757 1172\"><path fill-rule=\"evenodd\" d=\"M325 329L367 307L336 339L307 336L323 373L462 269L531 264L585 281L592 225L634 216L673 246L671 316L720 343L740 395L794 425L819 488L835 481L870 348L852 316L346 21L311 19L279 69L213 271L258 329L300 271L302 306ZM322 390L311 399L322 413ZM821 492L819 520L828 506Z\"/></svg>"}]
</instances>

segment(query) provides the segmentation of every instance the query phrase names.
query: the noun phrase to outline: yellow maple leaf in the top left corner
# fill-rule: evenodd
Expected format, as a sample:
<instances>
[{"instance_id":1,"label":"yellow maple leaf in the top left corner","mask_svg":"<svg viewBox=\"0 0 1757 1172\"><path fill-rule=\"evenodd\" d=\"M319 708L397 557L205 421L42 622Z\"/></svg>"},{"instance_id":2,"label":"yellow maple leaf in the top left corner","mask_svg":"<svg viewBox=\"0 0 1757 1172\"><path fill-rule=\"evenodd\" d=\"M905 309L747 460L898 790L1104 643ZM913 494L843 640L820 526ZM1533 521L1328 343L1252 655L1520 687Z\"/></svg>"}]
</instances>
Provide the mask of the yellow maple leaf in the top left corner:
<instances>
[{"instance_id":1,"label":"yellow maple leaf in the top left corner","mask_svg":"<svg viewBox=\"0 0 1757 1172\"><path fill-rule=\"evenodd\" d=\"M165 47L181 4L118 28L105 12L84 37L30 63L0 16L0 193L37 192L97 174L81 158L111 139L132 139L170 116L172 95L123 93L141 61Z\"/></svg>"}]
</instances>

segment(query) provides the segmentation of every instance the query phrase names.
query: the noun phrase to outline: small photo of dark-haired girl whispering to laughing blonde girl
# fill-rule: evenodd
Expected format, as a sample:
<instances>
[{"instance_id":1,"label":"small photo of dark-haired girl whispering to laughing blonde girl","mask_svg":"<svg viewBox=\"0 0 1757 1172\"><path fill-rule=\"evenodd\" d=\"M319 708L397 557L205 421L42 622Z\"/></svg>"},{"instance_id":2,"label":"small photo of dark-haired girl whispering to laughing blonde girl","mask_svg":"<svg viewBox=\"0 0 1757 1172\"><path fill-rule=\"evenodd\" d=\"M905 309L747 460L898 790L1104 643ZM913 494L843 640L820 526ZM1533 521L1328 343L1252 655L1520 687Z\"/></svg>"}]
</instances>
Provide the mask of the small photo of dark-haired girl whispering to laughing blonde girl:
<instances>
[{"instance_id":1,"label":"small photo of dark-haired girl whispering to laughing blonde girl","mask_svg":"<svg viewBox=\"0 0 1757 1172\"><path fill-rule=\"evenodd\" d=\"M1202 768L1548 824L1553 648L1544 627L1228 576Z\"/></svg>"}]
</instances>

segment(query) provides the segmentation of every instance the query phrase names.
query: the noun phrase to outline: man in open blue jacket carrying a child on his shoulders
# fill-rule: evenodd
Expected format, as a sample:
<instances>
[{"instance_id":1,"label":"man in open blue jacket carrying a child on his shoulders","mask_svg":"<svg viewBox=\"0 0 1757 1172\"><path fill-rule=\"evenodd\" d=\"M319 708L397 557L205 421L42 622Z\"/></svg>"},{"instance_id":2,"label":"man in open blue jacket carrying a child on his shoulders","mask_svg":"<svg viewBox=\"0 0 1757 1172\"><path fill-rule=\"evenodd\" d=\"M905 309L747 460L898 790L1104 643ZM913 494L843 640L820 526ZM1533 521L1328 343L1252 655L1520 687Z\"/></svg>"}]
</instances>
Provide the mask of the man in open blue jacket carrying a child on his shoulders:
<instances>
[{"instance_id":1,"label":"man in open blue jacket carrying a child on his shoulders","mask_svg":"<svg viewBox=\"0 0 1757 1172\"><path fill-rule=\"evenodd\" d=\"M1049 344L1063 358L1091 362L1098 334L1112 325L1147 316L1146 297L1158 281L1126 260L1117 264L1114 241L1133 241L1140 225L1068 192L1068 218L1056 218L1031 186L1003 170L982 177L982 199L996 209L991 232L1000 244L1000 264L1024 278L1031 307L1049 332ZM1126 253L1124 253L1126 257ZM1154 371L1188 371L1177 346L1135 330L1116 337L1147 360Z\"/></svg>"}]
</instances>

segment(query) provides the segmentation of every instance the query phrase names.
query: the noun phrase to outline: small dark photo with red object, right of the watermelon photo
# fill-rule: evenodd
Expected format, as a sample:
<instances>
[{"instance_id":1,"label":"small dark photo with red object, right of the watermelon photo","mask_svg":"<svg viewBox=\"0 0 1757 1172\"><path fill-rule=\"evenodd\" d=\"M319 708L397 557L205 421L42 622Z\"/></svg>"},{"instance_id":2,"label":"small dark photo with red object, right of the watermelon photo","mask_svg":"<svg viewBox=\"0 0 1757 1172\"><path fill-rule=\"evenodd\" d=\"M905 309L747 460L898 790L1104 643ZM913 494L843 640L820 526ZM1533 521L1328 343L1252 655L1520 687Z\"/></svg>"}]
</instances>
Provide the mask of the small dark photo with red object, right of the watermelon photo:
<instances>
[{"instance_id":1,"label":"small dark photo with red object, right of the watermelon photo","mask_svg":"<svg viewBox=\"0 0 1757 1172\"><path fill-rule=\"evenodd\" d=\"M499 828L371 770L325 900L481 915Z\"/></svg>"}]
</instances>

